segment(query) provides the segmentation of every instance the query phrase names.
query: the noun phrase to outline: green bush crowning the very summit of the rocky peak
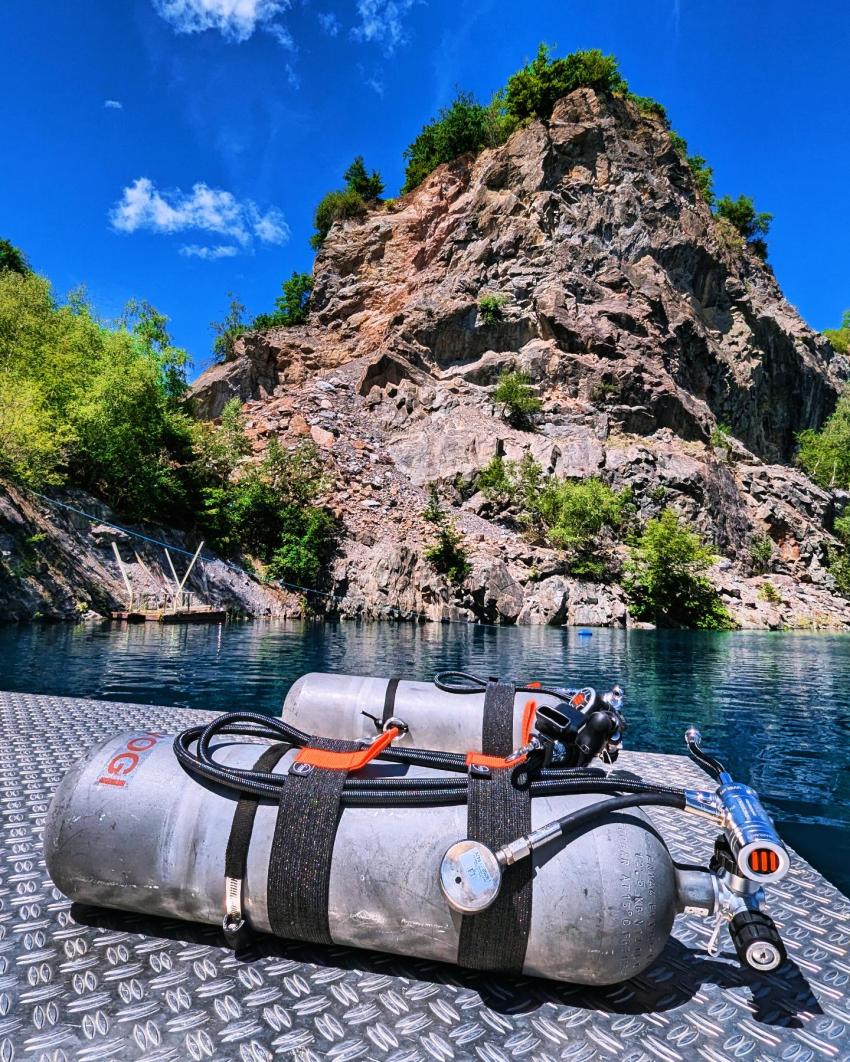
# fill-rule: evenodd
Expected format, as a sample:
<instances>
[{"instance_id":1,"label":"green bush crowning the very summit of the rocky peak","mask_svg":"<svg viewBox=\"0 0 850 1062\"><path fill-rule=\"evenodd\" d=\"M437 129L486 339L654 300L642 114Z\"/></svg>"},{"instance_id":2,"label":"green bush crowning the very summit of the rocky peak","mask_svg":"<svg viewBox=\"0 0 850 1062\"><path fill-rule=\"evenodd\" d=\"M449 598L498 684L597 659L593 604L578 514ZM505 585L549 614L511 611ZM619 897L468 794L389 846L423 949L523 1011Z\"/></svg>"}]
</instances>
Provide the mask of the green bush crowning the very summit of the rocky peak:
<instances>
[{"instance_id":1,"label":"green bush crowning the very summit of the rocky peak","mask_svg":"<svg viewBox=\"0 0 850 1062\"><path fill-rule=\"evenodd\" d=\"M505 105L508 114L520 121L549 118L558 100L577 88L628 91L613 55L602 55L595 48L573 52L565 58L552 59L550 55L549 48L540 45L534 58L508 79Z\"/></svg>"}]
</instances>

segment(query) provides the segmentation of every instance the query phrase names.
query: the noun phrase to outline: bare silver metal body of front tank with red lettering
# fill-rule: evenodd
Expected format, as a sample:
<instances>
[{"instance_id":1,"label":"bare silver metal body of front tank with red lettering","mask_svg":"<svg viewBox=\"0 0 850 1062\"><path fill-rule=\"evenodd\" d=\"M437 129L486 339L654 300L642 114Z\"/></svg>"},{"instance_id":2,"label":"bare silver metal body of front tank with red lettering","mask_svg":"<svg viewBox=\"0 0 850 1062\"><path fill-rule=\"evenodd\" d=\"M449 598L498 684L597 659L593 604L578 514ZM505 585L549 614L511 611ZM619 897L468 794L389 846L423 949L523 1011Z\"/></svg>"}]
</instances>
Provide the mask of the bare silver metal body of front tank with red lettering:
<instances>
[{"instance_id":1,"label":"bare silver metal body of front tank with red lettering","mask_svg":"<svg viewBox=\"0 0 850 1062\"><path fill-rule=\"evenodd\" d=\"M251 768L257 744L216 738L216 759ZM298 750L275 768L285 773ZM375 760L370 775L434 777L422 767ZM593 794L532 800L532 825ZM71 900L220 925L224 859L236 809L232 790L185 771L172 738L121 734L66 774L51 805L45 855ZM269 931L267 880L277 807L259 804L242 909ZM446 850L466 836L466 807L344 807L334 846L328 915L333 940L455 962L461 915L440 888ZM676 874L664 842L638 810L532 853L534 884L524 973L610 984L661 953L677 911Z\"/></svg>"}]
</instances>

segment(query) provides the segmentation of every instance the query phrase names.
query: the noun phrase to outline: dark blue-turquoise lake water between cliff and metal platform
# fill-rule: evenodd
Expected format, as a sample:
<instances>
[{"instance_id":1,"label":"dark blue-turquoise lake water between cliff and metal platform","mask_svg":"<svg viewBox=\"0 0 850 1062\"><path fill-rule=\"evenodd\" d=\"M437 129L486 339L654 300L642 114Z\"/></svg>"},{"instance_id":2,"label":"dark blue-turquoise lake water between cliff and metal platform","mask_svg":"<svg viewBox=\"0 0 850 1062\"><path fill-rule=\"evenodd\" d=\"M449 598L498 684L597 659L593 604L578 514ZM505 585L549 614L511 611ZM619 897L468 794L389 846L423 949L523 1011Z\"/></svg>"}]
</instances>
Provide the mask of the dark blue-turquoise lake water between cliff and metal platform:
<instances>
[{"instance_id":1,"label":"dark blue-turquoise lake water between cliff and metal platform","mask_svg":"<svg viewBox=\"0 0 850 1062\"><path fill-rule=\"evenodd\" d=\"M305 671L429 679L460 668L626 687L626 744L708 749L781 833L850 894L850 636L465 624L0 627L0 689L276 714Z\"/></svg>"}]
</instances>

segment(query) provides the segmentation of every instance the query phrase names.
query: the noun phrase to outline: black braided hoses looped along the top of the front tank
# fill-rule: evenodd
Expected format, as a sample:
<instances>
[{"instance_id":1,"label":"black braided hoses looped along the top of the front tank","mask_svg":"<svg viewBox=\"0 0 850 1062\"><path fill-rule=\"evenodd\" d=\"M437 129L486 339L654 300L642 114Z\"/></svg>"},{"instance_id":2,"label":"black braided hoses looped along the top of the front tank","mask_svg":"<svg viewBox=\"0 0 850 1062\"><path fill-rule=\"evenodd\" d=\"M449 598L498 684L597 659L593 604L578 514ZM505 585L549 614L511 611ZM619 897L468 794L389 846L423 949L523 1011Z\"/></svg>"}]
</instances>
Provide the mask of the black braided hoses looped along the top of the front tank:
<instances>
[{"instance_id":1,"label":"black braided hoses looped along the top of the front tank","mask_svg":"<svg viewBox=\"0 0 850 1062\"><path fill-rule=\"evenodd\" d=\"M204 726L191 726L174 738L174 755L190 774L208 782L261 799L279 800L286 774L236 768L215 759L215 737L241 736L283 741L292 748L309 746L311 738L280 719L255 713L230 713ZM193 748L194 747L194 748ZM457 753L429 749L385 749L384 761L438 768L457 772L458 777L346 777L342 803L347 807L436 807L466 803L468 767L465 757ZM521 769L524 765L520 765ZM461 773L462 772L462 773ZM527 782L532 796L555 796L562 793L612 793L624 791L635 796L663 795L684 806L684 791L652 785L641 780L610 778L601 771L541 770Z\"/></svg>"}]
</instances>

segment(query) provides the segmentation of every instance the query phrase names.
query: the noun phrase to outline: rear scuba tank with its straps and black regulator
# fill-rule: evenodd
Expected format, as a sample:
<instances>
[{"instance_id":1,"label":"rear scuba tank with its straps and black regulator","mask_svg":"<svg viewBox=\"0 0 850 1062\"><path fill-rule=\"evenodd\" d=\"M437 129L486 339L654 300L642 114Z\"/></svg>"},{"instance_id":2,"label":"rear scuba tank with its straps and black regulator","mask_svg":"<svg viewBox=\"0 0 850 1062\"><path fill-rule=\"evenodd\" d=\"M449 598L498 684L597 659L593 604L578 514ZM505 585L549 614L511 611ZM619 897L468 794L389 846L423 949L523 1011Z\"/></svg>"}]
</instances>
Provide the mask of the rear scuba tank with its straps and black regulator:
<instances>
[{"instance_id":1,"label":"rear scuba tank with its straps and black regulator","mask_svg":"<svg viewBox=\"0 0 850 1062\"><path fill-rule=\"evenodd\" d=\"M492 702L498 702L502 697L502 703L494 705L493 712L506 712L510 717L503 727L508 749L518 749L524 744L524 727L527 729L529 712L536 714L539 723L544 715L549 715L555 737L554 729L565 725L565 721L558 718L559 714L562 716L565 710L570 714L572 709L573 722L577 725L573 727L572 735L568 729L562 735L560 751L563 755L559 761L564 766L579 766L604 751L609 761L616 758L623 727L618 715L623 704L622 687L614 686L602 697L597 697L591 687L547 688L540 683L515 685L512 689L507 687L507 683L495 680L486 682L463 671L442 671L434 682L313 671L302 675L292 685L284 700L282 718L308 734L333 734L352 741L370 741L376 732L398 726L402 733L397 743L401 747L442 752L481 749L488 752L491 751L489 739L498 726L497 720L490 717L490 708ZM568 708L565 709L565 705ZM610 722L609 725L599 717L585 729L583 743L592 744L592 751L588 748L584 754L573 748L577 732L584 722L576 718L576 712L580 712L585 720L594 712L601 712ZM592 735L594 724L600 724L604 736ZM505 731L509 732L509 736ZM581 737L578 743L582 743ZM556 756L558 752L556 749Z\"/></svg>"}]
</instances>

